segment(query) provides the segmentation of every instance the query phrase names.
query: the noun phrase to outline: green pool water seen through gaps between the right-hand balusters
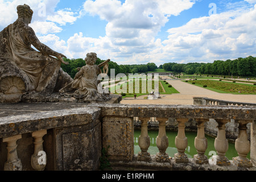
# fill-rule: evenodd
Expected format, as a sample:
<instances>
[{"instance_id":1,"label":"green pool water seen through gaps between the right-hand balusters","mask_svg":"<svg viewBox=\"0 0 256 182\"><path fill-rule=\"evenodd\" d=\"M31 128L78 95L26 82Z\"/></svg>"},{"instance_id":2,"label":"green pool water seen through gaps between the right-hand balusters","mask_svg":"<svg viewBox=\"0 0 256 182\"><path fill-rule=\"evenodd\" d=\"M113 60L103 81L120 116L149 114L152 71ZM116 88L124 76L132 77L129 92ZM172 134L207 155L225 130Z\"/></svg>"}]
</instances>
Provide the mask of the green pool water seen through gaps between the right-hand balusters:
<instances>
[{"instance_id":1,"label":"green pool water seen through gaps between the right-hand balusters","mask_svg":"<svg viewBox=\"0 0 256 182\"><path fill-rule=\"evenodd\" d=\"M134 131L134 154L138 154L139 151L141 151L141 148L139 148L138 140L139 135L141 135L141 130L135 130ZM148 148L148 152L151 155L155 155L157 152L159 152L158 147L156 147L156 137L158 136L158 131L149 130L148 135L150 137L150 147ZM175 137L177 136L177 131L166 131L166 135L169 140L169 147L166 150L166 153L174 157L174 154L177 153L177 148L175 146ZM185 154L187 154L188 158L193 158L194 155L197 154L196 148L195 148L195 138L197 133L196 132L185 132L186 137L188 138L188 147L186 148ZM208 141L208 147L205 151L205 155L208 159L211 159L213 155L217 155L217 152L214 148L214 139L213 137L209 137L208 135L205 135L205 138L207 138ZM229 160L232 160L233 157L238 156L236 148L234 146L234 143L229 142L229 149L226 152L226 157ZM250 153L247 155L247 158L250 159Z\"/></svg>"}]
</instances>

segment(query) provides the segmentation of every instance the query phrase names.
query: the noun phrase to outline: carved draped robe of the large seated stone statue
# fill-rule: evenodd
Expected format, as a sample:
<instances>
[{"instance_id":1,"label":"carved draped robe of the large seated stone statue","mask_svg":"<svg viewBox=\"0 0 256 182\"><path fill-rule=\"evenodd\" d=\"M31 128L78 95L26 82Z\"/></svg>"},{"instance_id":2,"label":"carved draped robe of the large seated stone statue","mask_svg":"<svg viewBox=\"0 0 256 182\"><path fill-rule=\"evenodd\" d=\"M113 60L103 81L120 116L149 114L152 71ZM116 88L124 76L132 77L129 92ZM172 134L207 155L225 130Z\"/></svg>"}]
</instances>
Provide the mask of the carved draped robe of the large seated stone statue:
<instances>
[{"instance_id":1,"label":"carved draped robe of the large seated stone statue","mask_svg":"<svg viewBox=\"0 0 256 182\"><path fill-rule=\"evenodd\" d=\"M13 62L25 74L24 77L28 77L27 81L30 83L26 84L30 85L30 88L27 91L42 91L48 85L54 88L60 70L60 61L35 51L22 31L35 34L32 28L18 20L0 32L1 44L3 44L0 58Z\"/></svg>"}]
</instances>

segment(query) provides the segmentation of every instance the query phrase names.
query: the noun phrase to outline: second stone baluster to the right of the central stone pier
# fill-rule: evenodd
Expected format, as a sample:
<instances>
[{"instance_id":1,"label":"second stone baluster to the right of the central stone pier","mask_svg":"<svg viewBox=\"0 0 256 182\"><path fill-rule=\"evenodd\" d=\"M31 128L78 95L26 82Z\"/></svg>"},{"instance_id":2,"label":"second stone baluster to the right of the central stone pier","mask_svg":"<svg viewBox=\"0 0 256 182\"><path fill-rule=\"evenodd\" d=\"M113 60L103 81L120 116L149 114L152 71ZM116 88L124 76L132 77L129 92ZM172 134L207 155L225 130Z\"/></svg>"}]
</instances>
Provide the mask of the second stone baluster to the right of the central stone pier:
<instances>
[{"instance_id":1,"label":"second stone baluster to the right of the central stone pier","mask_svg":"<svg viewBox=\"0 0 256 182\"><path fill-rule=\"evenodd\" d=\"M166 121L168 118L156 118L159 122L158 137L156 137L156 146L159 152L156 154L156 161L166 162L169 160L169 155L166 154L166 149L169 145L168 137L166 136Z\"/></svg>"}]
</instances>

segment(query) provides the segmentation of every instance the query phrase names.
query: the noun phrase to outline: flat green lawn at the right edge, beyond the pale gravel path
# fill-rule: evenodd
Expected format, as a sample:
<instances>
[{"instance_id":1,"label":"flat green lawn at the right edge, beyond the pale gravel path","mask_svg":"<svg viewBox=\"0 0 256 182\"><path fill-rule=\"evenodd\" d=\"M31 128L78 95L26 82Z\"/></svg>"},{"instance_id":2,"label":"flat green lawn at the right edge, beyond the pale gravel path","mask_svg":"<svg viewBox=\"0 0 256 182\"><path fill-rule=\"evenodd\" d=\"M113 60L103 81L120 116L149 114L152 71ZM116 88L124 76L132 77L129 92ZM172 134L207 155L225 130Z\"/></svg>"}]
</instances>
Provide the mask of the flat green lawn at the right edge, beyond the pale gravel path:
<instances>
[{"instance_id":1,"label":"flat green lawn at the right edge, beyond the pale gravel path","mask_svg":"<svg viewBox=\"0 0 256 182\"><path fill-rule=\"evenodd\" d=\"M248 85L241 83L233 83L227 81L217 81L217 80L189 80L188 83L192 84L195 82L196 86L203 87L205 89L213 90L218 93L232 93L232 94L256 94L256 85ZM241 92L241 93L239 93Z\"/></svg>"}]
</instances>

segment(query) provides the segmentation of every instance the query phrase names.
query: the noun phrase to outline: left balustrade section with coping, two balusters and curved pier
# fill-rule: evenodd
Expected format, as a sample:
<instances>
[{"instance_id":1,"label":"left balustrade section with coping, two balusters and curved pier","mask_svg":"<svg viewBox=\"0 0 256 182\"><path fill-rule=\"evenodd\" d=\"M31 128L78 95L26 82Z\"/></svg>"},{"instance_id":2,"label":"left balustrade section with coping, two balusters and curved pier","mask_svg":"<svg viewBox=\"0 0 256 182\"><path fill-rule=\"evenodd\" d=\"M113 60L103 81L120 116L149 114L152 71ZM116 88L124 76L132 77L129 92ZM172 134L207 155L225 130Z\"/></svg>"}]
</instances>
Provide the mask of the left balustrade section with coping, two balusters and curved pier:
<instances>
[{"instance_id":1,"label":"left balustrade section with coping, two balusters and curved pier","mask_svg":"<svg viewBox=\"0 0 256 182\"><path fill-rule=\"evenodd\" d=\"M0 170L97 170L101 109L79 105L2 104Z\"/></svg>"}]
</instances>

